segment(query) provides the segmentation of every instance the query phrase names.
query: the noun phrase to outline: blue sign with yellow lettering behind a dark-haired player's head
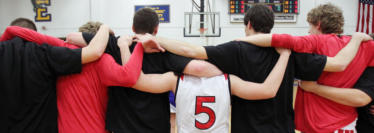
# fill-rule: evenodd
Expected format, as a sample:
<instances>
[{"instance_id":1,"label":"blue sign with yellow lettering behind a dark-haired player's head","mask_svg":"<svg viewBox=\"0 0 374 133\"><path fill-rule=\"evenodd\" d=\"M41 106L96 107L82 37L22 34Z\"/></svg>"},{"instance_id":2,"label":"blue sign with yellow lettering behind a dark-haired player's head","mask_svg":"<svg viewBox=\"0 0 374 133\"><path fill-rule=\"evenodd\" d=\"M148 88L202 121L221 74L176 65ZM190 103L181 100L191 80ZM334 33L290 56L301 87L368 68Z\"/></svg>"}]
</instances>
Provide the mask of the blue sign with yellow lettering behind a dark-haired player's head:
<instances>
[{"instance_id":1,"label":"blue sign with yellow lettering behind a dark-haired player's head","mask_svg":"<svg viewBox=\"0 0 374 133\"><path fill-rule=\"evenodd\" d=\"M137 10L148 7L156 11L156 13L159 15L160 22L170 22L170 5L135 5L135 12ZM134 12L134 13L135 13Z\"/></svg>"}]
</instances>

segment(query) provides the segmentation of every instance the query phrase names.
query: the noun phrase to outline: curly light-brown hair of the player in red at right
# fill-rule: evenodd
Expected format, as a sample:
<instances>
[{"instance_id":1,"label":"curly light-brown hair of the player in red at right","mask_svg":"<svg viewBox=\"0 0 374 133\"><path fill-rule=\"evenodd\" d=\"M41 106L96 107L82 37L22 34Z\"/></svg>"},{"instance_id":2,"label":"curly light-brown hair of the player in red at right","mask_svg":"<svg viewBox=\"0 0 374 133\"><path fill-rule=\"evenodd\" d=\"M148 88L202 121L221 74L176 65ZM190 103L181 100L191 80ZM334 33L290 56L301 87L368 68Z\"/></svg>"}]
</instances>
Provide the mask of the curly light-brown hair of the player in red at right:
<instances>
[{"instance_id":1,"label":"curly light-brown hair of the player in red at right","mask_svg":"<svg viewBox=\"0 0 374 133\"><path fill-rule=\"evenodd\" d=\"M321 22L323 34L342 34L344 32L343 10L331 3L320 4L309 11L307 22L318 25Z\"/></svg>"}]
</instances>

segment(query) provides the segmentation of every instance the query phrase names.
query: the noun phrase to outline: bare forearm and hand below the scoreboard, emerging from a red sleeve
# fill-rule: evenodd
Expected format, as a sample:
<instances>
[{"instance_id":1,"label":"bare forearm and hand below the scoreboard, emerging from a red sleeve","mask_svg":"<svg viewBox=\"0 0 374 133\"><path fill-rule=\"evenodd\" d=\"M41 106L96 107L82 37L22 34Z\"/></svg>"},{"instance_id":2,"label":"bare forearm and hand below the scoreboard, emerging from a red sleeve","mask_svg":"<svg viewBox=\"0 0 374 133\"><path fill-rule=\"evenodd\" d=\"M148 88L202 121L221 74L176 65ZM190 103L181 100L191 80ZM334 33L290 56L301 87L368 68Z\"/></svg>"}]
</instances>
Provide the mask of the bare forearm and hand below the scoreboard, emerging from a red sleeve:
<instances>
[{"instance_id":1,"label":"bare forearm and hand below the scoreboard, emerging from a red sleeve","mask_svg":"<svg viewBox=\"0 0 374 133\"><path fill-rule=\"evenodd\" d=\"M272 35L273 34L259 34L251 35L248 37L237 38L235 41L245 41L251 44L261 46L261 47L271 47L272 46Z\"/></svg>"}]
</instances>

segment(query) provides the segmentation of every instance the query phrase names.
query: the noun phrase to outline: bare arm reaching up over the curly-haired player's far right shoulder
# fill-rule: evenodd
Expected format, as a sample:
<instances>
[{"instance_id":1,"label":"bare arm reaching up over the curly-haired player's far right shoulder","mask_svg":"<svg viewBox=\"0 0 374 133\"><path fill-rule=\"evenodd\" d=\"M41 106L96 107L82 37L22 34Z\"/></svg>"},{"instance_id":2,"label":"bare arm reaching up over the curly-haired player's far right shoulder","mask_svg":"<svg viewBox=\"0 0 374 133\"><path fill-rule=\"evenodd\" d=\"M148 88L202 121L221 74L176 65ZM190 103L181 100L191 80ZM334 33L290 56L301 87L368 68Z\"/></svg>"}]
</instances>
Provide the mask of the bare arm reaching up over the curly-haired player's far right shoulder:
<instances>
[{"instance_id":1,"label":"bare arm reaching up over the curly-haired player's far right shoulder","mask_svg":"<svg viewBox=\"0 0 374 133\"><path fill-rule=\"evenodd\" d=\"M341 72L346 69L349 63L355 58L361 42L373 40L369 35L355 32L349 43L339 51L334 57L327 57L327 62L324 71L327 72Z\"/></svg>"}]
</instances>

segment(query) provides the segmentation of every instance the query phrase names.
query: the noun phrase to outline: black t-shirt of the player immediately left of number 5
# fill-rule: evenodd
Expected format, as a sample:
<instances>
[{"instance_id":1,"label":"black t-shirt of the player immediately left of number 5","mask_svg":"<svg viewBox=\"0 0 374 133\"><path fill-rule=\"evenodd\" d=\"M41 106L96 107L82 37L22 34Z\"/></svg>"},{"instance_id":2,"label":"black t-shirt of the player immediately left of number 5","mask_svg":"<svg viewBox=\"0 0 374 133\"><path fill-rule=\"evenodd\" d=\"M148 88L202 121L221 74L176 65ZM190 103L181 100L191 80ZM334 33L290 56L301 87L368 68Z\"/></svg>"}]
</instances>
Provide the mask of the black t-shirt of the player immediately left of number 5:
<instances>
[{"instance_id":1,"label":"black t-shirt of the player immediately left of number 5","mask_svg":"<svg viewBox=\"0 0 374 133\"><path fill-rule=\"evenodd\" d=\"M93 34L83 33L87 44ZM110 36L105 53L113 56L122 65L120 50L117 46L119 37ZM135 48L133 43L130 52ZM173 71L183 73L184 67L193 59L177 56L168 51L163 53L144 53L142 71L145 74L162 74ZM105 130L126 133L166 133L170 132L169 92L153 94L121 86L109 87L109 98Z\"/></svg>"}]
</instances>

